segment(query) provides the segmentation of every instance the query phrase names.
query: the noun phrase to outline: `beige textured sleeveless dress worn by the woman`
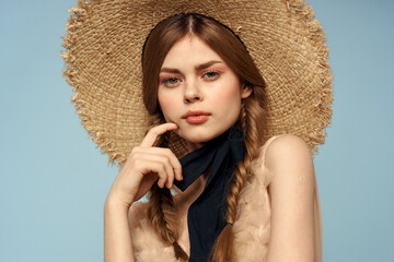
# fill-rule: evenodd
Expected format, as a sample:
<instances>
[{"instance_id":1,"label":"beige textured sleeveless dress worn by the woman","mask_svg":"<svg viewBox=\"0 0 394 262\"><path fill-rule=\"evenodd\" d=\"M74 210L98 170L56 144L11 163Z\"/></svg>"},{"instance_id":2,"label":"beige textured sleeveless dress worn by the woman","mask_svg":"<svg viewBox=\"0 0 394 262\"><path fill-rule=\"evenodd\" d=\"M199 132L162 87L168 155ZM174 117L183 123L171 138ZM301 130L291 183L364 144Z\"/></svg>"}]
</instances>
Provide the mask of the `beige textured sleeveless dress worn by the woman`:
<instances>
[{"instance_id":1,"label":"beige textured sleeveless dress worn by the woman","mask_svg":"<svg viewBox=\"0 0 394 262\"><path fill-rule=\"evenodd\" d=\"M260 148L259 157L252 163L253 178L246 183L241 192L239 201L239 219L233 225L235 261L239 262L265 262L270 234L270 196L267 187L271 181L269 172L265 167L265 153L270 142L276 135L270 138ZM176 196L175 196L176 202ZM314 227L315 227L315 262L322 261L322 222L317 184L314 202ZM187 230L187 211L179 212L182 218L182 235L178 240L179 246L188 253L189 240ZM147 203L134 203L129 212L129 224L132 241L135 260L138 262L177 261L174 255L173 247L164 246L155 235L148 216Z\"/></svg>"}]
</instances>

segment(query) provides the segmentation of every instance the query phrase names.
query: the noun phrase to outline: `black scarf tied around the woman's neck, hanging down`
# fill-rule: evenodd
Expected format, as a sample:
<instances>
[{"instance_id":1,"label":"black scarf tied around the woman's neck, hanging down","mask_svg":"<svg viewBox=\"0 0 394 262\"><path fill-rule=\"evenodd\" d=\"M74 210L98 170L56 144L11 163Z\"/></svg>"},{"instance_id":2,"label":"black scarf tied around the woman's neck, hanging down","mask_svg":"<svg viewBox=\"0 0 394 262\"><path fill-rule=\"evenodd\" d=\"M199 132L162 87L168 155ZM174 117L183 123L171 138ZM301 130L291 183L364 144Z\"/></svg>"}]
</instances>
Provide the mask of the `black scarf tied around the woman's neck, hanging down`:
<instances>
[{"instance_id":1,"label":"black scarf tied around the woman's neck, hanging down","mask_svg":"<svg viewBox=\"0 0 394 262\"><path fill-rule=\"evenodd\" d=\"M243 131L233 126L179 159L184 179L175 180L174 184L182 191L211 166L202 193L187 213L189 262L208 261L216 238L227 225L227 192L236 164L245 157L245 151Z\"/></svg>"}]
</instances>

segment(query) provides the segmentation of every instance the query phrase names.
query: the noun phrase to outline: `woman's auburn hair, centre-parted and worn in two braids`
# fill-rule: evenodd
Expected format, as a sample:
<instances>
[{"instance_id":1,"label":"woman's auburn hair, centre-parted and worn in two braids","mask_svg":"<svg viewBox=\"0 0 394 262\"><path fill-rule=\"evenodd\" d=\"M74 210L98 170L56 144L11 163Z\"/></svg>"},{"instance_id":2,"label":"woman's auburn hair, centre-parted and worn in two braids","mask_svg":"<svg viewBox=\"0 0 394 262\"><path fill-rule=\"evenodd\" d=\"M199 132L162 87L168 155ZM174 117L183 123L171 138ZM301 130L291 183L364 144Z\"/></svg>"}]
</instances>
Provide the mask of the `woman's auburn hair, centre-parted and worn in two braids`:
<instances>
[{"instance_id":1,"label":"woman's auburn hair, centre-parted and worn in two braids","mask_svg":"<svg viewBox=\"0 0 394 262\"><path fill-rule=\"evenodd\" d=\"M252 95L242 100L236 122L245 135L245 158L237 163L234 180L227 194L228 225L217 238L210 253L211 261L231 262L234 260L232 224L237 217L239 195L251 176L251 163L258 155L260 135L257 123L264 118L265 83L246 47L229 27L211 17L196 13L170 16L151 31L142 50L143 103L149 112L150 128L165 122L158 103L159 73L164 58L174 44L188 34L204 40L237 74L243 85L253 88ZM166 138L162 135L155 146L169 146ZM186 252L177 245L179 237L177 213L169 189L161 189L155 183L152 186L148 216L161 239L173 245L176 258L187 261Z\"/></svg>"}]
</instances>

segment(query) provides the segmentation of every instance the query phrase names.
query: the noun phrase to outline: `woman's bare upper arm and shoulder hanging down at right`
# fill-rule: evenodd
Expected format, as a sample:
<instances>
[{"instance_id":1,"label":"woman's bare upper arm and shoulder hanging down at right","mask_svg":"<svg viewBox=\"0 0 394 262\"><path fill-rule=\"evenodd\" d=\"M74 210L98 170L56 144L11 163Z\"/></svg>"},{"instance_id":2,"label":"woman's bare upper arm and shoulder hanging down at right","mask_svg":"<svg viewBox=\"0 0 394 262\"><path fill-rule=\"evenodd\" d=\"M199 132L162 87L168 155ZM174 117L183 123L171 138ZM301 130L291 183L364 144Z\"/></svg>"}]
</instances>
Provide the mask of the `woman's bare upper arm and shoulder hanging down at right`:
<instances>
[{"instance_id":1,"label":"woman's bare upper arm and shoulder hanging down at right","mask_svg":"<svg viewBox=\"0 0 394 262\"><path fill-rule=\"evenodd\" d=\"M313 262L315 174L306 143L279 136L267 148L266 167L273 177L268 261Z\"/></svg>"}]
</instances>

